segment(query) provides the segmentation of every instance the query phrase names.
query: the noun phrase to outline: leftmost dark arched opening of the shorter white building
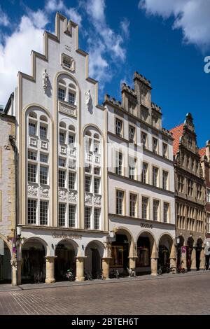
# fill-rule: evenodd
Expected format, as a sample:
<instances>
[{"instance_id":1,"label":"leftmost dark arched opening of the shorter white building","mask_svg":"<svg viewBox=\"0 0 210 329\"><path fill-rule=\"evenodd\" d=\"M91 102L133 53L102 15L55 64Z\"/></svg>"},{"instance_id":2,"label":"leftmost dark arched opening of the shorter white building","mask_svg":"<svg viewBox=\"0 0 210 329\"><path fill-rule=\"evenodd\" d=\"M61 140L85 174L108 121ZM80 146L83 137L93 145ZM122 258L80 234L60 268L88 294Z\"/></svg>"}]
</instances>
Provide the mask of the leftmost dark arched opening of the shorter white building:
<instances>
[{"instance_id":1,"label":"leftmost dark arched opening of the shorter white building","mask_svg":"<svg viewBox=\"0 0 210 329\"><path fill-rule=\"evenodd\" d=\"M120 229L116 232L116 241L111 244L110 269L118 268L120 274L128 275L127 267L130 267L130 249L132 237L127 230Z\"/></svg>"}]
</instances>

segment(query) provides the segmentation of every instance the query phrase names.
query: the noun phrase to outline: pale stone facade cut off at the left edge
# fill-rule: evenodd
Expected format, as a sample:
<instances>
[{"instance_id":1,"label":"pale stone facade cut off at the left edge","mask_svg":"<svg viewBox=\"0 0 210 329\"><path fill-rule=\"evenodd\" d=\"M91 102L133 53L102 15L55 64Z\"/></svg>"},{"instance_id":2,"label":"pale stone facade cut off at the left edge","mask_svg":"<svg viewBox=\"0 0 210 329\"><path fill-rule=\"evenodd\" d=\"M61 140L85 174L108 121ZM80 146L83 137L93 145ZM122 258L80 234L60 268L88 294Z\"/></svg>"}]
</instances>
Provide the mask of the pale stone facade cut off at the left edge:
<instances>
[{"instance_id":1,"label":"pale stone facade cut off at the left edge","mask_svg":"<svg viewBox=\"0 0 210 329\"><path fill-rule=\"evenodd\" d=\"M12 281L15 263L13 245L15 238L15 118L0 114L0 243L1 281ZM3 250L2 250L3 249ZM15 267L14 267L15 269Z\"/></svg>"}]
</instances>

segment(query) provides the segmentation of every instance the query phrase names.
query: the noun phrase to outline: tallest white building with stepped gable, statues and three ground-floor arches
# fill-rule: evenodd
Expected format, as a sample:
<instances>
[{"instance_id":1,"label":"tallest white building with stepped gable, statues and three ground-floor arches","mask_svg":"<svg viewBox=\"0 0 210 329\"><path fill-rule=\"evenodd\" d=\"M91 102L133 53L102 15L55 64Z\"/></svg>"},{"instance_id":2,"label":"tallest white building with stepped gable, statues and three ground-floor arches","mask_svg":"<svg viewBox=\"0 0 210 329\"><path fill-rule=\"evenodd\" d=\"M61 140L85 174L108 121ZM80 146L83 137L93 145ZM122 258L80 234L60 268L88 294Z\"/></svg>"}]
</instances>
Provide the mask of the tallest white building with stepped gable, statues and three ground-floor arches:
<instances>
[{"instance_id":1,"label":"tallest white building with stepped gable, statues and three ground-floor arches","mask_svg":"<svg viewBox=\"0 0 210 329\"><path fill-rule=\"evenodd\" d=\"M55 35L43 38L44 55L31 52L31 76L18 73L7 111L19 159L18 283L38 273L50 283L69 268L81 281L101 263L108 276L106 111L78 26L57 13Z\"/></svg>"}]
</instances>

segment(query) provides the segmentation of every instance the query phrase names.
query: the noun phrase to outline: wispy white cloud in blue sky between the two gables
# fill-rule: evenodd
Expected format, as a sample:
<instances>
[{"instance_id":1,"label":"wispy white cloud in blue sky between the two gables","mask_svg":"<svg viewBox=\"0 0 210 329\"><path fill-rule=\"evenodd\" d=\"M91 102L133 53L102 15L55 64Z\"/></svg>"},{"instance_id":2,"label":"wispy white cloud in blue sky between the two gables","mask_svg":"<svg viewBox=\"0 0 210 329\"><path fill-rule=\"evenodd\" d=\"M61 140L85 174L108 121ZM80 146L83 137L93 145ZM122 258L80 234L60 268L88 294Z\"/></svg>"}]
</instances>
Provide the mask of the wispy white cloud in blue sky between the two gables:
<instances>
[{"instance_id":1,"label":"wispy white cloud in blue sky between the two gables","mask_svg":"<svg viewBox=\"0 0 210 329\"><path fill-rule=\"evenodd\" d=\"M80 6L85 9L89 20L90 29L87 34L88 52L90 54L90 76L99 80L99 88L102 91L107 81L110 81L114 72L109 63L119 65L125 62L126 49L123 45L125 36L125 24L122 34L117 34L106 22L105 0L90 0L88 3L80 1ZM127 25L129 27L129 25ZM128 31L127 31L128 33Z\"/></svg>"}]
</instances>

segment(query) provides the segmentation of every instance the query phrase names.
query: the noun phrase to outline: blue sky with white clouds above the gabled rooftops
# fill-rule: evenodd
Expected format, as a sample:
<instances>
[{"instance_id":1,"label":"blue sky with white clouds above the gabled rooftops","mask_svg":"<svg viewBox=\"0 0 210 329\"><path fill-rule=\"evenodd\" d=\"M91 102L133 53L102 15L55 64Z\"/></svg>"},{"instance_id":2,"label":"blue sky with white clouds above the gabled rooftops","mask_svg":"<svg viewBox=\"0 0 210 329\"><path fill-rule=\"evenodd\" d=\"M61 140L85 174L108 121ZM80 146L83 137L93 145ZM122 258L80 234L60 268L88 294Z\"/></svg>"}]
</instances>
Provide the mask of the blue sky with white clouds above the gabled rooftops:
<instances>
[{"instance_id":1,"label":"blue sky with white clouds above the gabled rooftops","mask_svg":"<svg viewBox=\"0 0 210 329\"><path fill-rule=\"evenodd\" d=\"M18 71L30 73L30 50L41 51L43 29L54 31L56 10L80 26L100 102L105 93L120 99L120 83L132 85L139 71L151 80L164 127L179 125L190 112L204 146L210 139L209 0L0 0L0 104L13 92Z\"/></svg>"}]
</instances>

